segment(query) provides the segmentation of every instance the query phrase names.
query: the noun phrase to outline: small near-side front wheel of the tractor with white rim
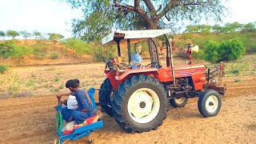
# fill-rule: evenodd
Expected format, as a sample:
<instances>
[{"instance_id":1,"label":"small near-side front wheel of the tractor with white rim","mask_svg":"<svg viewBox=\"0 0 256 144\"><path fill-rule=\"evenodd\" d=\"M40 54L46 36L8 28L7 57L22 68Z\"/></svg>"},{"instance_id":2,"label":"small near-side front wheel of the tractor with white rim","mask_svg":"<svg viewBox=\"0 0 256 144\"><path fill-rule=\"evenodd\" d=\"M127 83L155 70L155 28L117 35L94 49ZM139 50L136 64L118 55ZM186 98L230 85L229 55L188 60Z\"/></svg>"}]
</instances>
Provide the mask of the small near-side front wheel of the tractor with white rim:
<instances>
[{"instance_id":1,"label":"small near-side front wheel of the tractor with white rim","mask_svg":"<svg viewBox=\"0 0 256 144\"><path fill-rule=\"evenodd\" d=\"M198 110L204 117L214 117L222 107L222 98L215 90L205 90L198 98Z\"/></svg>"}]
</instances>

